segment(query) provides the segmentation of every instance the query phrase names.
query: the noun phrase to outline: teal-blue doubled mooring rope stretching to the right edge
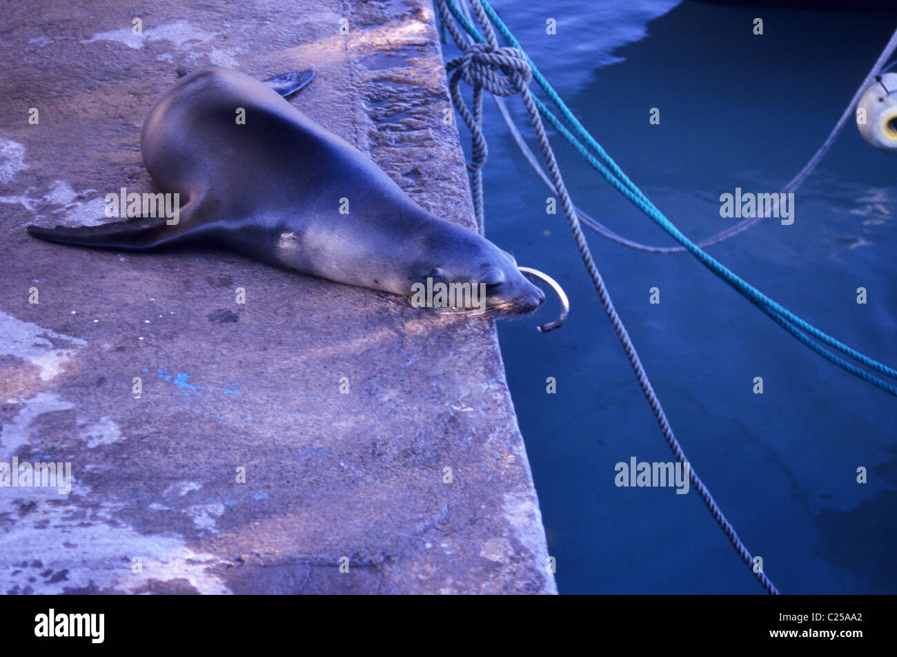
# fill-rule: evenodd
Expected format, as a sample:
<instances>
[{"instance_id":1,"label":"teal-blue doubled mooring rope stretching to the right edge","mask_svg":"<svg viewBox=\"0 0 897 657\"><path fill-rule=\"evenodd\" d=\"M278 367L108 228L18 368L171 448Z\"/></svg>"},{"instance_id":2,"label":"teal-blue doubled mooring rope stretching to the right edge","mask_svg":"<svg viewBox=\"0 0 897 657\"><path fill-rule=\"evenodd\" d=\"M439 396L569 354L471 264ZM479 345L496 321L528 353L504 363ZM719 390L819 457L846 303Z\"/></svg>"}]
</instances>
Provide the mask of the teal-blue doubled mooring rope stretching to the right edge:
<instances>
[{"instance_id":1,"label":"teal-blue doubled mooring rope stretching to the right edge","mask_svg":"<svg viewBox=\"0 0 897 657\"><path fill-rule=\"evenodd\" d=\"M492 6L488 3L488 0L481 0L483 4L483 10L492 23L498 28L501 36L504 37L508 41L508 43L513 48L520 48L520 44L517 39L514 38L514 35L510 33L508 27L501 21L501 18L495 13L495 10L492 9ZM452 13L457 22L467 31L473 39L475 39L479 43L485 43L485 39L483 36L476 31L475 27L466 20L466 17L458 10L453 0L446 0L448 11ZM734 272L730 269L722 265L718 262L717 259L713 258L706 251L701 250L694 242L689 240L685 235L679 231L678 228L675 227L675 224L670 222L663 213L661 213L656 206L646 197L627 176L623 173L623 170L614 162L614 160L608 155L604 148L601 147L595 141L595 139L588 133L585 127L583 127L579 120L573 116L570 109L567 105L562 101L561 97L558 96L557 92L554 91L551 84L545 80L544 76L539 73L536 65L533 63L532 59L530 59L526 53L524 53L524 57L527 59L527 63L532 69L533 79L539 83L539 86L542 87L543 91L546 95L553 101L555 106L561 111L563 118L567 120L576 134L582 138L597 154L598 158L601 162L598 162L595 157L592 156L591 153L588 153L585 146L579 143L579 141L570 134L570 131L564 127L561 121L556 118L553 113L547 109L544 104L534 97L534 101L536 101L536 107L539 109L539 112L548 119L549 123L558 130L570 143L571 146L582 155L588 163L598 171L605 180L607 180L615 189L617 189L624 197L629 199L631 203L638 207L645 215L648 215L649 218L657 223L661 228L663 228L675 241L678 241L680 244L684 246L686 250L688 250L695 258L701 262L702 265L709 268L716 276L726 281L728 285L731 285L736 289L738 293L741 293L745 296L748 301L752 302L758 308L760 308L763 312L771 317L772 320L776 321L782 328L788 330L788 332L797 337L797 339L804 345L810 347L814 352L819 355L822 355L823 358L830 361L833 364L838 365L841 369L851 374L854 374L858 378L863 381L867 381L868 383L872 383L875 387L880 388L894 397L897 397L897 387L894 387L890 383L882 381L877 377L869 374L868 372L864 372L863 370L858 369L857 367L847 363L846 361L840 359L838 356L833 355L830 351L824 349L821 346L815 345L808 337L802 335L799 331L804 331L809 335L815 337L816 339L822 341L824 344L834 347L836 350L840 351L842 354L849 355L854 360L858 361L861 364L865 364L868 367L871 367L876 372L881 372L886 376L890 376L894 379L897 379L897 372L895 372L892 368L887 365L878 363L877 361L869 358L867 355L860 354L855 349L846 346L840 341L836 340L834 337L829 336L823 331L816 329L812 324L809 324L805 320L797 317L788 309L779 305L779 303L773 301L770 297L766 296L758 289L753 287L753 285L748 284L741 277L736 276Z\"/></svg>"}]
</instances>

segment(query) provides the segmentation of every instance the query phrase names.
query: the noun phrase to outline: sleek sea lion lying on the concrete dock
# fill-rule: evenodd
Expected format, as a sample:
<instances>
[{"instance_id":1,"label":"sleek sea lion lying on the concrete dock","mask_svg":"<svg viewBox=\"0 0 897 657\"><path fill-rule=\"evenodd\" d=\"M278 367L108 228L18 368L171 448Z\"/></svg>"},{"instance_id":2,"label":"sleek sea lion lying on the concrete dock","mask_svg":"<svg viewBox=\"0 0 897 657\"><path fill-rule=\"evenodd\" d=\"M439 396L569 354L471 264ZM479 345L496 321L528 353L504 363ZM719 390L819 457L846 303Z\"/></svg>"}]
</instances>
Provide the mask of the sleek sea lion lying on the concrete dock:
<instances>
[{"instance_id":1,"label":"sleek sea lion lying on the concrete dock","mask_svg":"<svg viewBox=\"0 0 897 657\"><path fill-rule=\"evenodd\" d=\"M150 109L141 136L152 180L179 194L178 223L32 225L31 235L117 250L214 244L405 296L428 278L483 284L486 307L502 314L535 311L544 301L507 252L417 206L358 149L277 92L295 91L307 76L275 76L269 85L220 66L181 73Z\"/></svg>"}]
</instances>

